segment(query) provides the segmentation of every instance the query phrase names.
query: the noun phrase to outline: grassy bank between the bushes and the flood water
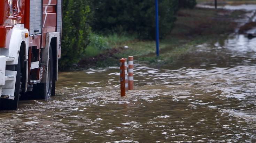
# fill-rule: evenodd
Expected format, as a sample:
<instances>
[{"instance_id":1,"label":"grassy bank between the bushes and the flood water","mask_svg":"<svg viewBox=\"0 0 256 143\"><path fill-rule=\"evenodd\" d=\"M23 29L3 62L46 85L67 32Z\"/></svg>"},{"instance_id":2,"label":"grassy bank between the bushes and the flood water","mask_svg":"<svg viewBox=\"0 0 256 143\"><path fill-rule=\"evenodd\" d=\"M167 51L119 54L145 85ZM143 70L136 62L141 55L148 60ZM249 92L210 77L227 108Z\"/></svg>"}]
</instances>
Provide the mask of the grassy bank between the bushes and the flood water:
<instances>
[{"instance_id":1,"label":"grassy bank between the bushes and the flood water","mask_svg":"<svg viewBox=\"0 0 256 143\"><path fill-rule=\"evenodd\" d=\"M183 9L178 12L176 25L165 39L160 40L160 57L155 56L155 41L136 39L136 35L94 35L79 62L79 68L117 66L123 57L134 56L138 63L165 64L179 59L196 45L216 41L234 32L234 19L244 11L222 9ZM163 30L160 30L160 32ZM124 46L129 48L125 49Z\"/></svg>"}]
</instances>

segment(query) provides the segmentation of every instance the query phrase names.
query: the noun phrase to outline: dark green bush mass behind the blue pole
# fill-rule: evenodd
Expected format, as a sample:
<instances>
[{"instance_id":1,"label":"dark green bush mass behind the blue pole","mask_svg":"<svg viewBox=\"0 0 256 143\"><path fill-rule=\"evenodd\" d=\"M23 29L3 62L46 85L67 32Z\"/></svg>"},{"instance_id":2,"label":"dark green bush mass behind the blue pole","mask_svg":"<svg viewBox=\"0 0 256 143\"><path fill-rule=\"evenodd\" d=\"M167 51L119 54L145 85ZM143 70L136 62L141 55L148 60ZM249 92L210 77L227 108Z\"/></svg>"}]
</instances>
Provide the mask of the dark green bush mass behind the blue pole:
<instances>
[{"instance_id":1,"label":"dark green bush mass behind the blue pole","mask_svg":"<svg viewBox=\"0 0 256 143\"><path fill-rule=\"evenodd\" d=\"M168 34L176 20L179 0L159 0L160 36ZM154 0L91 0L93 29L105 33L135 33L142 39L155 38Z\"/></svg>"}]
</instances>

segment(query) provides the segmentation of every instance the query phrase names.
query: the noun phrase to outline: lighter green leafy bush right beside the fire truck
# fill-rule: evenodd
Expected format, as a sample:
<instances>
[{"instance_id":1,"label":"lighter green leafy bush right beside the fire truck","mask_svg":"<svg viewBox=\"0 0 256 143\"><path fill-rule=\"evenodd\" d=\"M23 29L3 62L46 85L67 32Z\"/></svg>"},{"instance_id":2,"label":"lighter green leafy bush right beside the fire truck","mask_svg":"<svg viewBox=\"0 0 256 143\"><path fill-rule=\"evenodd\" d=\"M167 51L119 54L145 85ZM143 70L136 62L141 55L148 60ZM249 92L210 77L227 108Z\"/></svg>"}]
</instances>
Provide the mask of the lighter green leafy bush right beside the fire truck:
<instances>
[{"instance_id":1,"label":"lighter green leafy bush right beside the fire truck","mask_svg":"<svg viewBox=\"0 0 256 143\"><path fill-rule=\"evenodd\" d=\"M59 67L67 69L79 62L90 42L91 13L84 0L63 1L62 53Z\"/></svg>"}]
</instances>

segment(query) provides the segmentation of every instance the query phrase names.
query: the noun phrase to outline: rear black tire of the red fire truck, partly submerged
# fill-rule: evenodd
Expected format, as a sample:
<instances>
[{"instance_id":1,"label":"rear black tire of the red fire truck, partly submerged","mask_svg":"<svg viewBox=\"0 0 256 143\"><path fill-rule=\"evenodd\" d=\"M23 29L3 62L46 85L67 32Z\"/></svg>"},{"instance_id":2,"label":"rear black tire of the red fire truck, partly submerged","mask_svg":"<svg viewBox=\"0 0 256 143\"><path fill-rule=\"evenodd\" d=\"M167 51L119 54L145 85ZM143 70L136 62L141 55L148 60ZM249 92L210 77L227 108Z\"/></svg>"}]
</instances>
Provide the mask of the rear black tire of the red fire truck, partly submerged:
<instances>
[{"instance_id":1,"label":"rear black tire of the red fire truck, partly submerged","mask_svg":"<svg viewBox=\"0 0 256 143\"><path fill-rule=\"evenodd\" d=\"M46 83L39 83L33 86L32 99L49 99L55 91L55 80L53 78L53 52L52 46L49 48L48 79ZM30 99L31 99L30 98Z\"/></svg>"}]
</instances>

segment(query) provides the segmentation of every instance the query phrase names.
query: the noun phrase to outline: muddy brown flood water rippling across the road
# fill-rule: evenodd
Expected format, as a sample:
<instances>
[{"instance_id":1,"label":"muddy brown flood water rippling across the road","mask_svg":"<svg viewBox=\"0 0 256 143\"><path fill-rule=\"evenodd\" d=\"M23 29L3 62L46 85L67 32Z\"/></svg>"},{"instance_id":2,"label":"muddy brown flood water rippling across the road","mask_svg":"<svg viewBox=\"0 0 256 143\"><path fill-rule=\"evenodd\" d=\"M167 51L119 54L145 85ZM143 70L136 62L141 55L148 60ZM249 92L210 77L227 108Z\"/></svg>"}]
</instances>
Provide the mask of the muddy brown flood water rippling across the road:
<instances>
[{"instance_id":1,"label":"muddy brown flood water rippling across the road","mask_svg":"<svg viewBox=\"0 0 256 143\"><path fill-rule=\"evenodd\" d=\"M135 61L136 62L136 61ZM56 96L0 112L0 142L256 142L256 38L198 45L168 66L59 73Z\"/></svg>"}]
</instances>

